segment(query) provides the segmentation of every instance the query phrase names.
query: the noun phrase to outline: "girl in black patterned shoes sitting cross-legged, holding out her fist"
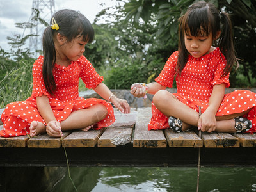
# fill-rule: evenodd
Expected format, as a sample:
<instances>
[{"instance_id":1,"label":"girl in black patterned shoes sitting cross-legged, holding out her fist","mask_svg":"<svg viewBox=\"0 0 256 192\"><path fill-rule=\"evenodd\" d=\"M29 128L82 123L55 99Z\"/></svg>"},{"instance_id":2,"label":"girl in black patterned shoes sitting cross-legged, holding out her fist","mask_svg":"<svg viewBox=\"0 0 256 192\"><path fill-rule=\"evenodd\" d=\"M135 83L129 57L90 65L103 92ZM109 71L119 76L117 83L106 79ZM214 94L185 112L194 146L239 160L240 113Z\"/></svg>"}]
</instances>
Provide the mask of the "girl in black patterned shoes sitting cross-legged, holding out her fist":
<instances>
[{"instance_id":1,"label":"girl in black patterned shoes sitting cross-legged, holding out her fist","mask_svg":"<svg viewBox=\"0 0 256 192\"><path fill-rule=\"evenodd\" d=\"M170 56L156 82L131 86L136 97L154 94L148 129L256 132L255 93L236 90L225 95L230 71L238 65L228 13L199 1L189 6L179 22L179 50ZM172 94L165 89L172 87L175 76L177 93Z\"/></svg>"}]
</instances>

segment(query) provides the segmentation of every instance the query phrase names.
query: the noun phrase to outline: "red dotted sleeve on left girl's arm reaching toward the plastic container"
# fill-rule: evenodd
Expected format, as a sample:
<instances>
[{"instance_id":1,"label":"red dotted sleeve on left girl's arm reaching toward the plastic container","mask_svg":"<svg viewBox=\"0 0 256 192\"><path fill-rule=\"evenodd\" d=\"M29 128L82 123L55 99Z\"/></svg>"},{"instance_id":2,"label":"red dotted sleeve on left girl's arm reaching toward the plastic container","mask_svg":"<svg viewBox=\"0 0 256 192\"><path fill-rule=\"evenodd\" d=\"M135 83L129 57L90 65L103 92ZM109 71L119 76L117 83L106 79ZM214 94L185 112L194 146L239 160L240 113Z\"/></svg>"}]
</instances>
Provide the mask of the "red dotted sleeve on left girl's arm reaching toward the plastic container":
<instances>
[{"instance_id":1,"label":"red dotted sleeve on left girl's arm reaching toward the plastic container","mask_svg":"<svg viewBox=\"0 0 256 192\"><path fill-rule=\"evenodd\" d=\"M83 80L86 88L93 89L103 81L103 76L97 74L95 68L86 57L81 56L77 62L81 67L80 78Z\"/></svg>"}]
</instances>

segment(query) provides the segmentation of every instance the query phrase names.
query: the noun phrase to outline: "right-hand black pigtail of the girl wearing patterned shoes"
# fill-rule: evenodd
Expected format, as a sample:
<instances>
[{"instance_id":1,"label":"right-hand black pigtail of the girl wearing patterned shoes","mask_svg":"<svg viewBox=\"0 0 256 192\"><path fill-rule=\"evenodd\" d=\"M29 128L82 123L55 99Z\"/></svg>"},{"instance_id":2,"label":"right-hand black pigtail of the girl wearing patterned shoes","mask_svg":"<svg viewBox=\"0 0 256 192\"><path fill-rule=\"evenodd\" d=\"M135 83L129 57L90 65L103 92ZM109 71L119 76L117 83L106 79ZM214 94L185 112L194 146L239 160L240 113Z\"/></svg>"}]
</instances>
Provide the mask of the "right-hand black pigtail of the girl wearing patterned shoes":
<instances>
[{"instance_id":1,"label":"right-hand black pigtail of the girl wearing patterned shoes","mask_svg":"<svg viewBox=\"0 0 256 192\"><path fill-rule=\"evenodd\" d=\"M239 64L234 49L232 22L228 13L220 12L220 22L222 22L222 28L218 47L220 47L220 51L224 54L227 60L227 66L223 70L222 76L227 76L227 74L232 70L232 67L235 66L237 69Z\"/></svg>"}]
</instances>

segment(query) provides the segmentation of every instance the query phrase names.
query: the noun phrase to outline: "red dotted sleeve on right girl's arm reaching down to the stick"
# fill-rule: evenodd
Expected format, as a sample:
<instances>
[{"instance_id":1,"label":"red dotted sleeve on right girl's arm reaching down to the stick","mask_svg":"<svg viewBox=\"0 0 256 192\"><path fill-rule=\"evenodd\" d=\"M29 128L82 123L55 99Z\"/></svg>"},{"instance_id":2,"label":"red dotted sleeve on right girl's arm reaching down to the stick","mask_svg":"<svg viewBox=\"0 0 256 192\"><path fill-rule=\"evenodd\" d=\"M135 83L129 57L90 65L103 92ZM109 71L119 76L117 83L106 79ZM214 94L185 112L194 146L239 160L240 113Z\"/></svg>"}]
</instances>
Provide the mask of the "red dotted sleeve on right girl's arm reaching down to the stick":
<instances>
[{"instance_id":1,"label":"red dotted sleeve on right girl's arm reaching down to the stick","mask_svg":"<svg viewBox=\"0 0 256 192\"><path fill-rule=\"evenodd\" d=\"M217 65L216 65L216 70L214 72L214 79L211 82L211 84L215 85L215 84L225 83L226 87L228 88L230 87L229 73L227 74L227 76L221 77L221 75L223 74L223 70L227 65L227 60L225 56L219 51L216 52L215 58L216 58Z\"/></svg>"}]
</instances>

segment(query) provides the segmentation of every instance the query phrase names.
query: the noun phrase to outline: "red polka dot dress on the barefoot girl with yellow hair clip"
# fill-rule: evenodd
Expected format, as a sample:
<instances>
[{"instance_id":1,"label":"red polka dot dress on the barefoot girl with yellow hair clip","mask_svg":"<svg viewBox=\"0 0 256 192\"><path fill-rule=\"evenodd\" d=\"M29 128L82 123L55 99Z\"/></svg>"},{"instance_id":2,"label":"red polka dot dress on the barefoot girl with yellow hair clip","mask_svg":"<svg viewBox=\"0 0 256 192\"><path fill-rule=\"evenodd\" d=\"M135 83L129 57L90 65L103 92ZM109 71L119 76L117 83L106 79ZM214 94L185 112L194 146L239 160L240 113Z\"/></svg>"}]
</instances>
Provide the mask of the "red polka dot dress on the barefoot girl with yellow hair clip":
<instances>
[{"instance_id":1,"label":"red polka dot dress on the barefoot girl with yellow hair clip","mask_svg":"<svg viewBox=\"0 0 256 192\"><path fill-rule=\"evenodd\" d=\"M54 97L49 95L44 85L42 76L43 61L44 57L39 56L33 65L31 97L22 102L12 102L4 109L1 116L3 130L0 131L0 136L9 137L29 134L29 125L34 120L46 125L36 108L36 97L43 94L49 98L49 103L58 122L65 120L73 111L88 108L95 104L103 104L108 109L108 115L104 120L97 123L97 129L113 124L115 121L113 107L106 100L79 97L79 78L83 80L87 88L95 88L103 81L103 77L97 74L90 61L81 56L79 60L72 61L68 67L55 64L53 76L56 82L56 92Z\"/></svg>"}]
</instances>

